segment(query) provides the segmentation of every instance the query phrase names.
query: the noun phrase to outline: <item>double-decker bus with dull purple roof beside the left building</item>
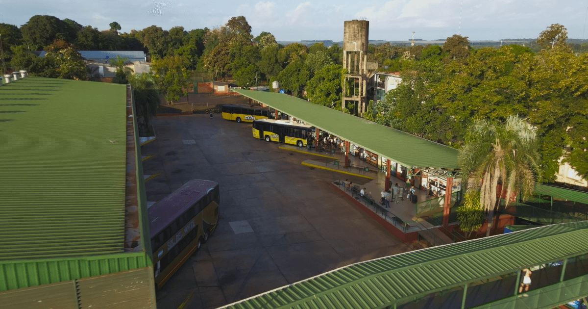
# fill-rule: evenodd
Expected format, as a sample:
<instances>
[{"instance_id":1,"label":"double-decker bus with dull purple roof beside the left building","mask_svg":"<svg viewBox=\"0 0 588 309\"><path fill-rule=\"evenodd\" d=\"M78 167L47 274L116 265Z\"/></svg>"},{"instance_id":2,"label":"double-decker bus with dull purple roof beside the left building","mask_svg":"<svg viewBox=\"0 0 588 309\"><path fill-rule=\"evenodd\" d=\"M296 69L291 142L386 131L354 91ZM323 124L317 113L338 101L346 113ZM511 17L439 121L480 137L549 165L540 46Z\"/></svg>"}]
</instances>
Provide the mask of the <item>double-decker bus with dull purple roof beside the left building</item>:
<instances>
[{"instance_id":1,"label":"double-decker bus with dull purple roof beside the left building","mask_svg":"<svg viewBox=\"0 0 588 309\"><path fill-rule=\"evenodd\" d=\"M149 207L155 284L161 288L218 225L219 184L188 181Z\"/></svg>"}]
</instances>

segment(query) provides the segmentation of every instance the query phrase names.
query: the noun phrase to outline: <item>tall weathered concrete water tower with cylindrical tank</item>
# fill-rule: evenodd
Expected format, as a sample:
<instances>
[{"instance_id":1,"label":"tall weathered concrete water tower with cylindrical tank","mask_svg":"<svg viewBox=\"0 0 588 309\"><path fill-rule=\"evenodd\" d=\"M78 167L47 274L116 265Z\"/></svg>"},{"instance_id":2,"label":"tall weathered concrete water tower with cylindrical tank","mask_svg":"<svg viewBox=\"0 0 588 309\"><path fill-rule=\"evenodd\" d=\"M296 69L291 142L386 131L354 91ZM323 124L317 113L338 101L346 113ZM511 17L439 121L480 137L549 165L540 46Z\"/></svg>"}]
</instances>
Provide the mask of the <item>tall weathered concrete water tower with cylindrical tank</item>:
<instances>
[{"instance_id":1,"label":"tall weathered concrete water tower with cylindrical tank","mask_svg":"<svg viewBox=\"0 0 588 309\"><path fill-rule=\"evenodd\" d=\"M369 21L353 19L343 24L343 68L348 70L343 83L342 107L355 103L352 114L368 110L366 86L368 74Z\"/></svg>"}]
</instances>

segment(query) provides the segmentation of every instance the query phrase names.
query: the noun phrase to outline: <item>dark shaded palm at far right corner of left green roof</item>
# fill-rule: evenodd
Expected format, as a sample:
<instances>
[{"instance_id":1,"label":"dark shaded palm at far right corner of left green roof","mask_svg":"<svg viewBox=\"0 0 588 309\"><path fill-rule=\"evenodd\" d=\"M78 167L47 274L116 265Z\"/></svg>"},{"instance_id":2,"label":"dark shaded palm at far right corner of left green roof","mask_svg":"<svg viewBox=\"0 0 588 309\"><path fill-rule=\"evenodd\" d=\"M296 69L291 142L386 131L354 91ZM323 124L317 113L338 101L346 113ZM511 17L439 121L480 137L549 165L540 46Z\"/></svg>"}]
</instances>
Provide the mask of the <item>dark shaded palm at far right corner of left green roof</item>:
<instances>
[{"instance_id":1,"label":"dark shaded palm at far right corner of left green roof","mask_svg":"<svg viewBox=\"0 0 588 309\"><path fill-rule=\"evenodd\" d=\"M137 114L143 117L144 125L149 130L149 121L157 114L161 102L159 88L149 73L129 75L129 84L133 89Z\"/></svg>"}]
</instances>

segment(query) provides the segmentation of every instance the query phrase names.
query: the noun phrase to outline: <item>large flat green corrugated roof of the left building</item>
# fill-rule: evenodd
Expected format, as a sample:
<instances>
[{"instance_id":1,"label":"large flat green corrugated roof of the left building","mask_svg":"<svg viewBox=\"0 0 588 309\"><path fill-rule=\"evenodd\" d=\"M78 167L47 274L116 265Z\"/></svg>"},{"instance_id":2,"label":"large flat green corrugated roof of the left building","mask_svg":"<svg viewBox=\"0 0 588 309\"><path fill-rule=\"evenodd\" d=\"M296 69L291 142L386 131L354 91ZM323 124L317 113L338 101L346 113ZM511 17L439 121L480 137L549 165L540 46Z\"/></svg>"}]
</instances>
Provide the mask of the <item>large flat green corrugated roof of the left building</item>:
<instances>
[{"instance_id":1,"label":"large flat green corrugated roof of the left building","mask_svg":"<svg viewBox=\"0 0 588 309\"><path fill-rule=\"evenodd\" d=\"M123 252L125 85L2 85L0 145L0 261Z\"/></svg>"}]
</instances>

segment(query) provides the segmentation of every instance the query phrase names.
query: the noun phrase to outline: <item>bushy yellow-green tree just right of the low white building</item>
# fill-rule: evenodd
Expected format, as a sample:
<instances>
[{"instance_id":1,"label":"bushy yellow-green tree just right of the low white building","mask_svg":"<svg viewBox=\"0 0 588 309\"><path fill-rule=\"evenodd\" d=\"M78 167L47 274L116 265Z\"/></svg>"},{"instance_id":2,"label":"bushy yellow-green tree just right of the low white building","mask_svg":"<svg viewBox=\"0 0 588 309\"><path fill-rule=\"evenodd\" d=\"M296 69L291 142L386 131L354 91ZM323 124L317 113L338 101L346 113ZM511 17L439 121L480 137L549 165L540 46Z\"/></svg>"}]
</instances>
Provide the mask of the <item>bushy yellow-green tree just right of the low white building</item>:
<instances>
[{"instance_id":1,"label":"bushy yellow-green tree just right of the low white building","mask_svg":"<svg viewBox=\"0 0 588 309\"><path fill-rule=\"evenodd\" d=\"M187 66L188 60L181 56L166 56L153 61L151 65L153 79L168 104L173 104L181 95L188 94L188 86L192 81L186 69Z\"/></svg>"}]
</instances>

